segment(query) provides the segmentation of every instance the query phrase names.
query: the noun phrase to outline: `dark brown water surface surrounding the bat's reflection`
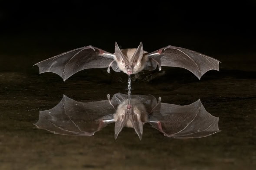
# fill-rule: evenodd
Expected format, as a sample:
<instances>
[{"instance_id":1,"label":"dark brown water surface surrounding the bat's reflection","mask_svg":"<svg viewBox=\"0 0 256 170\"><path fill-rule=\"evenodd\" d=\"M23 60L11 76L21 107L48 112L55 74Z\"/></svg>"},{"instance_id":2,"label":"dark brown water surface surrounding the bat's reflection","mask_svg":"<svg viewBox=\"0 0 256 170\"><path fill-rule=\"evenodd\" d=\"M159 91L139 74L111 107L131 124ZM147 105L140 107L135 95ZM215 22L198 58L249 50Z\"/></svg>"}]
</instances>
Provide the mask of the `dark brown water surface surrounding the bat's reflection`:
<instances>
[{"instance_id":1,"label":"dark brown water surface surrounding the bat's reflection","mask_svg":"<svg viewBox=\"0 0 256 170\"><path fill-rule=\"evenodd\" d=\"M56 135L33 125L39 110L53 108L63 94L79 102L92 102L107 99L107 94L128 93L128 76L113 71L108 74L106 69L81 71L66 82L56 74L39 75L32 65L59 54L56 51L37 46L24 54L7 54L3 49L1 170L255 169L255 54L213 52L222 62L220 72L209 71L201 80L184 69L166 67L161 72L145 71L136 79L132 76L131 94L161 96L161 102L176 105L200 99L207 112L219 117L221 130L204 138L174 139L146 124L140 141L132 128L124 128L115 140L114 124L92 137Z\"/></svg>"}]
</instances>

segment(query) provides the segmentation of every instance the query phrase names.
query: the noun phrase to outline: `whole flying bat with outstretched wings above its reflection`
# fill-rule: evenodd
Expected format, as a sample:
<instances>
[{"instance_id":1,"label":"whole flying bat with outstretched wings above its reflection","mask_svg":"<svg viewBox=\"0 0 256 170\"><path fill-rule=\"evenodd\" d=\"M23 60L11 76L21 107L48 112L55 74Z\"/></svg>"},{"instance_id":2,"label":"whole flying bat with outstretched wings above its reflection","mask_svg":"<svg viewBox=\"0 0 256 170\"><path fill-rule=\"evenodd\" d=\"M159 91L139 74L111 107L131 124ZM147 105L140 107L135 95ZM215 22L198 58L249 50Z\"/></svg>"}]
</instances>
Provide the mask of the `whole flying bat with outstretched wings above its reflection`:
<instances>
[{"instance_id":1,"label":"whole flying bat with outstretched wings above its reflection","mask_svg":"<svg viewBox=\"0 0 256 170\"><path fill-rule=\"evenodd\" d=\"M210 70L219 71L217 59L181 47L168 45L148 53L143 50L142 42L138 48L120 49L115 42L115 53L109 53L91 45L64 52L34 65L39 74L53 72L65 81L73 74L89 68L110 67L116 72L136 74L142 70L152 71L161 66L181 67L196 75L198 79Z\"/></svg>"}]
</instances>

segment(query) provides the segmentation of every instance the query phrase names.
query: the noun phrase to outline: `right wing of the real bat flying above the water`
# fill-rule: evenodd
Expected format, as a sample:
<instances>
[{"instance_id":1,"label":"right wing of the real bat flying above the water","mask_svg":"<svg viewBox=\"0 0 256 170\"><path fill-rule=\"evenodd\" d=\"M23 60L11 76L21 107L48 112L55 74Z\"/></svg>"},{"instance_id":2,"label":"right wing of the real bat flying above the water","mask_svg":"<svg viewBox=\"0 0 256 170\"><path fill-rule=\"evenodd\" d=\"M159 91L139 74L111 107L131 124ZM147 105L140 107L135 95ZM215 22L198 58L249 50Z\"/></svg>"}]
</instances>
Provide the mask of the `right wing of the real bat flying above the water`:
<instances>
[{"instance_id":1,"label":"right wing of the real bat flying above the water","mask_svg":"<svg viewBox=\"0 0 256 170\"><path fill-rule=\"evenodd\" d=\"M217 59L199 52L181 47L167 46L148 54L145 70L154 70L158 66L181 67L191 71L198 79L209 70L219 71Z\"/></svg>"}]
</instances>

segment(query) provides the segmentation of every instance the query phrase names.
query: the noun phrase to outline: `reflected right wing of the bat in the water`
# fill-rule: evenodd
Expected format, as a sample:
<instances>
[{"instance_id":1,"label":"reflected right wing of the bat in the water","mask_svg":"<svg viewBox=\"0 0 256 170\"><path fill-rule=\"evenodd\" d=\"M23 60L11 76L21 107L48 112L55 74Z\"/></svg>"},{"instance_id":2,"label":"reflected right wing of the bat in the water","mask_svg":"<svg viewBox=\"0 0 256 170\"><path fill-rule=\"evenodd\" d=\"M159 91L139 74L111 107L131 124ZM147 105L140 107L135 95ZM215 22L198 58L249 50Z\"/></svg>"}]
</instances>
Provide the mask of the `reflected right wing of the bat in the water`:
<instances>
[{"instance_id":1,"label":"reflected right wing of the bat in the water","mask_svg":"<svg viewBox=\"0 0 256 170\"><path fill-rule=\"evenodd\" d=\"M220 132L218 122L199 99L187 106L160 103L148 123L167 137L201 138Z\"/></svg>"}]
</instances>

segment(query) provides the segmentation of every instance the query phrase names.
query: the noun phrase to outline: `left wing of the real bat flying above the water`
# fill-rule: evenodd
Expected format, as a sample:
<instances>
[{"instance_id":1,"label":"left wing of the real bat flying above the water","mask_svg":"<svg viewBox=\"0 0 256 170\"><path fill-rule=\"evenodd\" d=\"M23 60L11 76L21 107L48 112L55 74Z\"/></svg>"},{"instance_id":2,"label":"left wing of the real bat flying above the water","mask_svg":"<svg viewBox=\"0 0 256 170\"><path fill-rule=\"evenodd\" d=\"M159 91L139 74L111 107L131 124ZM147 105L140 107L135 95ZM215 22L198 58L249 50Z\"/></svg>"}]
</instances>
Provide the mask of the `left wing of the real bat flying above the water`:
<instances>
[{"instance_id":1,"label":"left wing of the real bat flying above the water","mask_svg":"<svg viewBox=\"0 0 256 170\"><path fill-rule=\"evenodd\" d=\"M111 65L114 71L120 72L114 56L112 53L89 45L64 52L35 65L39 67L39 73L53 72L65 81L78 71L88 68L105 68Z\"/></svg>"}]
</instances>

